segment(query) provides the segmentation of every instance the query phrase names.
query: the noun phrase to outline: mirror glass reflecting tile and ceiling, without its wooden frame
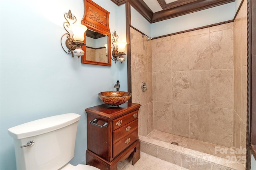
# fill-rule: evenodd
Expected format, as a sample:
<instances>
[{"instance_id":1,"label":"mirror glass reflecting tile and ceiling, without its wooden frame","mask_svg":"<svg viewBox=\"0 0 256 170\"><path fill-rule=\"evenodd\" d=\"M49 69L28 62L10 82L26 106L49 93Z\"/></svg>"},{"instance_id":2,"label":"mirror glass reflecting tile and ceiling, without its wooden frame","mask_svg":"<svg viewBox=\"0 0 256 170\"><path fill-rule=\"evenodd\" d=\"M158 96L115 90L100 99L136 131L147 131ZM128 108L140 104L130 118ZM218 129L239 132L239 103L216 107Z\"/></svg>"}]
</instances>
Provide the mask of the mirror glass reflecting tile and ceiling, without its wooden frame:
<instances>
[{"instance_id":1,"label":"mirror glass reflecting tile and ceiling, without its wooden frame","mask_svg":"<svg viewBox=\"0 0 256 170\"><path fill-rule=\"evenodd\" d=\"M86 32L86 60L108 63L105 47L107 44L108 36L88 29Z\"/></svg>"}]
</instances>

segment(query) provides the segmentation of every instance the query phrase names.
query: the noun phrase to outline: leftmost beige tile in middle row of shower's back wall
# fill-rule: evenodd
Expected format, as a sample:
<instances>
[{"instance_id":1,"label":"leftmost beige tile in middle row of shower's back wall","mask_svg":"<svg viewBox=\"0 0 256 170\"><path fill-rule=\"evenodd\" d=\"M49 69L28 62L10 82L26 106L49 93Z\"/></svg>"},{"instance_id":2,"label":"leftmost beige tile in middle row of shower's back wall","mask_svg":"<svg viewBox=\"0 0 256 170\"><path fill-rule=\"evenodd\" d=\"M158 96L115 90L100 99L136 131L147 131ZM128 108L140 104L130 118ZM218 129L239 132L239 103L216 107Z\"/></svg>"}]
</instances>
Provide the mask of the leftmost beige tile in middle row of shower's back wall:
<instances>
[{"instance_id":1,"label":"leftmost beige tile in middle row of shower's back wall","mask_svg":"<svg viewBox=\"0 0 256 170\"><path fill-rule=\"evenodd\" d=\"M157 73L156 92L158 102L172 102L172 74L166 72Z\"/></svg>"}]
</instances>

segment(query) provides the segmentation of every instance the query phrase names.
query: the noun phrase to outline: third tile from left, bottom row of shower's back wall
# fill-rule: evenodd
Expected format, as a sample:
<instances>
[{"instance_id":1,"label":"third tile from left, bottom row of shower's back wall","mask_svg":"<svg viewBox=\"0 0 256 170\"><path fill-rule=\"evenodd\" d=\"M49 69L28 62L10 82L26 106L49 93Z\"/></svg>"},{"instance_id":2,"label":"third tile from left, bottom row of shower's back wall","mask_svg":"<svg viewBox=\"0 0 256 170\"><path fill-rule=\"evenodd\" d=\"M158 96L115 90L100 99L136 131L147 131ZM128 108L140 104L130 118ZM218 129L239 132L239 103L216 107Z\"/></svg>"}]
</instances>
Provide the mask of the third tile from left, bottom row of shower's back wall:
<instances>
[{"instance_id":1,"label":"third tile from left, bottom row of shower's back wall","mask_svg":"<svg viewBox=\"0 0 256 170\"><path fill-rule=\"evenodd\" d=\"M210 107L190 105L190 138L210 142Z\"/></svg>"}]
</instances>

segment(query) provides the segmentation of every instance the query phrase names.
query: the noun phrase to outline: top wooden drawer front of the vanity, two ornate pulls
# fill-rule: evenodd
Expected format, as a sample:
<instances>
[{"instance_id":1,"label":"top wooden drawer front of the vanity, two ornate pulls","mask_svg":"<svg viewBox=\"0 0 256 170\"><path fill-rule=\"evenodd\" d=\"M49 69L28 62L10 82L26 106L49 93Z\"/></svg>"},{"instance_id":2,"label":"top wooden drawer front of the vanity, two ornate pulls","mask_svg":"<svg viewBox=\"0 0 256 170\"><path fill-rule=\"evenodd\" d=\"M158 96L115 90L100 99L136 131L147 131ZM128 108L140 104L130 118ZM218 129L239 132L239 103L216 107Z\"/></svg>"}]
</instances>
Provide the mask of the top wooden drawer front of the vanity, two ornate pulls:
<instances>
[{"instance_id":1,"label":"top wooden drawer front of the vanity, two ornate pulls","mask_svg":"<svg viewBox=\"0 0 256 170\"><path fill-rule=\"evenodd\" d=\"M122 127L135 119L138 119L138 110L133 111L132 113L129 113L129 114L119 117L117 119L114 119L112 122L113 130L118 129L119 127Z\"/></svg>"}]
</instances>

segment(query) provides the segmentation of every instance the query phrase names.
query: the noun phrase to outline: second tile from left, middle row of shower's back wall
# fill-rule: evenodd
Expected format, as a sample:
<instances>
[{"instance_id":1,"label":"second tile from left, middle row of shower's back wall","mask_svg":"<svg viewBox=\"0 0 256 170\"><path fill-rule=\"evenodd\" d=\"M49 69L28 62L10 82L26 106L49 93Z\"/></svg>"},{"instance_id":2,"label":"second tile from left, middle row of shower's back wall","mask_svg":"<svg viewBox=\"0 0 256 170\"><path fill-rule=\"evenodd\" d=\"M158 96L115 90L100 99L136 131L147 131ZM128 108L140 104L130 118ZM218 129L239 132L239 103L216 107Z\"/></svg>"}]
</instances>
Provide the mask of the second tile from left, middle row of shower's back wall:
<instances>
[{"instance_id":1,"label":"second tile from left, middle row of shower's back wall","mask_svg":"<svg viewBox=\"0 0 256 170\"><path fill-rule=\"evenodd\" d=\"M172 103L189 104L189 72L172 72Z\"/></svg>"}]
</instances>

